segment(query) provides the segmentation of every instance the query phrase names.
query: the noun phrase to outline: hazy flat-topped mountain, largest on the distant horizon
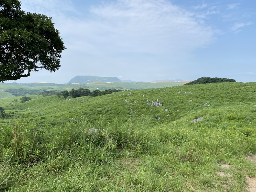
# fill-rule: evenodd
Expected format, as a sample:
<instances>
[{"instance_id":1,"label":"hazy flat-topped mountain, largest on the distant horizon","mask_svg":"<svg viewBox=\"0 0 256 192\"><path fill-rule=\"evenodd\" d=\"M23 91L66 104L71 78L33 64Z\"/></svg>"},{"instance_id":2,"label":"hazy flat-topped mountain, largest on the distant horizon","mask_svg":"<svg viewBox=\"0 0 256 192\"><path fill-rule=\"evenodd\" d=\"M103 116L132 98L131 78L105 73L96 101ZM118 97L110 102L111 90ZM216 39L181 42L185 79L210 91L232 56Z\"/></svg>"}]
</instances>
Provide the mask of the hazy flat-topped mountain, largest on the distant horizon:
<instances>
[{"instance_id":1,"label":"hazy flat-topped mountain, largest on the distant horizon","mask_svg":"<svg viewBox=\"0 0 256 192\"><path fill-rule=\"evenodd\" d=\"M117 77L96 77L96 76L76 76L73 79L71 79L67 84L69 83L80 83L80 84L86 84L91 83L94 81L100 81L100 82L122 82Z\"/></svg>"}]
</instances>

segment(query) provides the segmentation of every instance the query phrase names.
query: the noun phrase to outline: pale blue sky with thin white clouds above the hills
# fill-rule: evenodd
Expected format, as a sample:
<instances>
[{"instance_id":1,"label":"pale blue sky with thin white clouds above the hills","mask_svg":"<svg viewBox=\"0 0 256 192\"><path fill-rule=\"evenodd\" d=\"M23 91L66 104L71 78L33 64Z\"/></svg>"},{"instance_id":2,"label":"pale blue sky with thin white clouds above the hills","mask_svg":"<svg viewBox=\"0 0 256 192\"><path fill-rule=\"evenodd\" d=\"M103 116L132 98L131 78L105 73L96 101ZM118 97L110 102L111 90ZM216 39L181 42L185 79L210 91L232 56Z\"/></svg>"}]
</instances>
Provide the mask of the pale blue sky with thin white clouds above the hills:
<instances>
[{"instance_id":1,"label":"pale blue sky with thin white clouds above the hills","mask_svg":"<svg viewBox=\"0 0 256 192\"><path fill-rule=\"evenodd\" d=\"M61 68L15 82L67 83L77 75L154 81L256 81L254 0L21 0L52 17ZM5 83L13 81L5 81Z\"/></svg>"}]
</instances>

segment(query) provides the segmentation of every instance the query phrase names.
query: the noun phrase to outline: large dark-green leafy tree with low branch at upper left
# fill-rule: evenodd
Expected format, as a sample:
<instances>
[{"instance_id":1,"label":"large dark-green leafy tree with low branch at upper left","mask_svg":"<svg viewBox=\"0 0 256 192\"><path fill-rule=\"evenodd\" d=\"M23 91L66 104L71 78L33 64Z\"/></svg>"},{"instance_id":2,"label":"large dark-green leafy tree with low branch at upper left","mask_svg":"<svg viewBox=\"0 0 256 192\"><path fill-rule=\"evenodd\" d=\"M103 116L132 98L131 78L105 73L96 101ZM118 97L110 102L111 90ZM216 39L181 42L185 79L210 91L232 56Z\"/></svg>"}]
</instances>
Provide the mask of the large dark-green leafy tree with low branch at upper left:
<instances>
[{"instance_id":1,"label":"large dark-green leafy tree with low branch at upper left","mask_svg":"<svg viewBox=\"0 0 256 192\"><path fill-rule=\"evenodd\" d=\"M0 82L59 70L65 49L51 17L25 13L18 0L0 1Z\"/></svg>"}]
</instances>

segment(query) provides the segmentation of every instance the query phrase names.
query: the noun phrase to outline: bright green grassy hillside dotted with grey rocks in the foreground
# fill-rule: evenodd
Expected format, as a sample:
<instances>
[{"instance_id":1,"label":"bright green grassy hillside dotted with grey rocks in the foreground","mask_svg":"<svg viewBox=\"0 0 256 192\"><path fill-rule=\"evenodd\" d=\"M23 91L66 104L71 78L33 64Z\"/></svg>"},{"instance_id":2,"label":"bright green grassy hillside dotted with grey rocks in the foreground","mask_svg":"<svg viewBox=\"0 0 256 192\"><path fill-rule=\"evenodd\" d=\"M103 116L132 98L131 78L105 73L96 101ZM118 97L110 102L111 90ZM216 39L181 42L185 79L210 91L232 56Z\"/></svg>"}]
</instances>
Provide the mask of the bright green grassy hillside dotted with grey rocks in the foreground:
<instances>
[{"instance_id":1,"label":"bright green grassy hillside dotted with grey rocks in the foreground","mask_svg":"<svg viewBox=\"0 0 256 192\"><path fill-rule=\"evenodd\" d=\"M254 91L256 83L215 83L2 99L11 117L0 125L0 190L250 190ZM151 105L157 100L162 107Z\"/></svg>"}]
</instances>

